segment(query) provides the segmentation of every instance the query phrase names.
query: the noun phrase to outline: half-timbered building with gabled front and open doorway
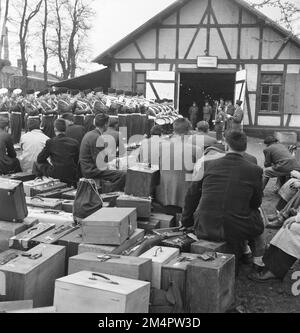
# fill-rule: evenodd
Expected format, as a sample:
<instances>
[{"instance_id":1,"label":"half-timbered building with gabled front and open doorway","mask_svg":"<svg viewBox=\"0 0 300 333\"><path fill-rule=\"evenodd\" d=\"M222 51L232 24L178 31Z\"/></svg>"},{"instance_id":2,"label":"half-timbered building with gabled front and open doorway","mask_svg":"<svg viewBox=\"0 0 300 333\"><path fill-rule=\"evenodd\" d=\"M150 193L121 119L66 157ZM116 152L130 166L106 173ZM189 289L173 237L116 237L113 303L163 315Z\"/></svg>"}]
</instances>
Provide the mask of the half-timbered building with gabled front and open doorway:
<instances>
[{"instance_id":1,"label":"half-timbered building with gabled front and open doorway","mask_svg":"<svg viewBox=\"0 0 300 333\"><path fill-rule=\"evenodd\" d=\"M99 55L116 89L242 99L248 132L299 130L300 40L242 0L178 0Z\"/></svg>"}]
</instances>

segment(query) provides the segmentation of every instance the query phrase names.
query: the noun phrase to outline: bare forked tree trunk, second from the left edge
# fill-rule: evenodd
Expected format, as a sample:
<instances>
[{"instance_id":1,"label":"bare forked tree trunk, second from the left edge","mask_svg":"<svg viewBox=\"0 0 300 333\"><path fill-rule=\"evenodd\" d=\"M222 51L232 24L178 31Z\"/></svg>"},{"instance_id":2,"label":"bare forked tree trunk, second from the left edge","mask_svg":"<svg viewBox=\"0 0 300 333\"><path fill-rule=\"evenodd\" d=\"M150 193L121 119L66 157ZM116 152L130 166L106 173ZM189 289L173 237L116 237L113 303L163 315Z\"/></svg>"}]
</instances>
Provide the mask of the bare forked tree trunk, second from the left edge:
<instances>
[{"instance_id":1,"label":"bare forked tree trunk, second from the left edge","mask_svg":"<svg viewBox=\"0 0 300 333\"><path fill-rule=\"evenodd\" d=\"M19 41L20 41L20 53L21 53L21 60L22 60L22 75L24 79L23 89L28 89L28 68L27 68L27 37L28 31L31 21L34 17L39 13L43 0L39 0L33 8L31 8L28 4L28 0L23 0L23 8L22 8L22 15L21 15L21 22L19 26Z\"/></svg>"}]
</instances>

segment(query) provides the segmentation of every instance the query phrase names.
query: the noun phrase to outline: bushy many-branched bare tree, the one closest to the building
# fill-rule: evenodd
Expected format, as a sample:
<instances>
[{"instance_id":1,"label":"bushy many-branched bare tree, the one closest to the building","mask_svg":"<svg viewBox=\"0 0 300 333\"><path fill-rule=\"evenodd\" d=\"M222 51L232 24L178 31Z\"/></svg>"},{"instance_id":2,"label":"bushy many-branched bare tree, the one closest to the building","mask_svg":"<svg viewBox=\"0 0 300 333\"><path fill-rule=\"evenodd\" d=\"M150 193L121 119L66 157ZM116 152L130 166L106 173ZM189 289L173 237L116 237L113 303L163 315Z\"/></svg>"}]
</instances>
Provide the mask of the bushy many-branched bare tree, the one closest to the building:
<instances>
[{"instance_id":1,"label":"bushy many-branched bare tree, the one closest to the building","mask_svg":"<svg viewBox=\"0 0 300 333\"><path fill-rule=\"evenodd\" d=\"M85 38L94 16L92 1L55 0L55 36L51 41L51 54L58 58L63 78L74 78L78 58L85 52Z\"/></svg>"}]
</instances>

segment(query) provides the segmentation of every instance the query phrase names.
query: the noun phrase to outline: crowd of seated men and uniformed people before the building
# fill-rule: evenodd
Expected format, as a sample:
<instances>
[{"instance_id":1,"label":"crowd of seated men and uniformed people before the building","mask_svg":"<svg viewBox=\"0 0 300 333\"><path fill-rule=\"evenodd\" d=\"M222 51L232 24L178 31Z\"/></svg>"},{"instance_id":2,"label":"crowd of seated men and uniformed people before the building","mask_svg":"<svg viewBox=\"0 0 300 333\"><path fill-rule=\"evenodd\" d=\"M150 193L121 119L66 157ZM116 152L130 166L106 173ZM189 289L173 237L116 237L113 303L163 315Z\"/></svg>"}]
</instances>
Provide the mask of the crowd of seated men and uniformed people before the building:
<instances>
[{"instance_id":1,"label":"crowd of seated men and uniformed people before the building","mask_svg":"<svg viewBox=\"0 0 300 333\"><path fill-rule=\"evenodd\" d=\"M67 102L63 95L61 99L48 98L48 102L53 101L55 112L61 109L64 112L57 112L57 116L49 105L42 119L33 100L31 105L23 100L27 110L26 133L20 138L18 157L12 128L9 134L9 127L16 120L7 116L11 111L5 109L5 99L2 99L0 173L33 172L75 187L80 177L84 177L109 182L112 192L123 191L126 171L121 170L118 163L115 168L108 168L106 163L99 165L99 156L104 162L112 160L107 156L107 137L114 142L117 159L123 156L128 159L128 156L119 134L120 124L117 118L109 116L108 104L98 105L98 93L102 92L86 94L85 102L79 98ZM18 96L15 92L13 110L16 105L21 108ZM78 105L89 99L94 102L93 117L78 123L76 117L81 116L76 113ZM257 159L247 153L247 136L241 126L242 103L237 101L233 107L223 102L218 104L215 117L216 127L221 124L221 135L217 134L216 139L209 133L212 107L206 103L203 120L195 123L194 116L199 110L194 105L190 110L194 123L175 117L171 132L170 123L155 125L135 151L135 162L159 167L160 184L154 200L164 209L182 214L183 230L193 229L199 239L225 241L237 262L239 259L249 261L251 257L255 271L249 278L254 281L283 279L300 258L300 165L289 150L271 136L265 140L265 169L260 168ZM45 106L42 108L45 110ZM168 111L165 112L164 115ZM186 163L187 152L190 163ZM261 214L263 193L273 177L279 178L281 199L277 214L265 221ZM266 228L280 229L269 247L264 238Z\"/></svg>"}]
</instances>

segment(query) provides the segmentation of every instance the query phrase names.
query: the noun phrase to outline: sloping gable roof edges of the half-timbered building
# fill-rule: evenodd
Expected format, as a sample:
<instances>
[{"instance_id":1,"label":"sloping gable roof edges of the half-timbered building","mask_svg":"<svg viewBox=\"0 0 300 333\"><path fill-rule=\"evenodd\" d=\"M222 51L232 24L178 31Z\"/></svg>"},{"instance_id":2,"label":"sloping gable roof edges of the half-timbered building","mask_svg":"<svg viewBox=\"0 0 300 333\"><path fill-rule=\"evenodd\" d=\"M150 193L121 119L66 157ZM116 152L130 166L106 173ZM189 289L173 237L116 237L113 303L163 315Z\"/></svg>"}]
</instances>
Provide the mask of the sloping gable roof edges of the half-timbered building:
<instances>
[{"instance_id":1,"label":"sloping gable roof edges of the half-timbered building","mask_svg":"<svg viewBox=\"0 0 300 333\"><path fill-rule=\"evenodd\" d=\"M111 46L109 49L107 49L105 52L101 53L97 58L93 60L93 62L97 63L103 63L106 64L106 62L109 62L109 59L112 57L112 55L118 51L120 51L122 48L124 48L126 45L128 45L130 42L132 42L134 39L140 37L143 33L145 33L147 30L155 27L158 23L162 22L166 18L168 18L170 15L172 15L176 10L180 7L183 7L191 0L177 0L170 6L168 6L166 9L155 15L153 18L151 18L149 21L147 21L145 24L140 26L138 29L134 30L132 33L130 33L128 36ZM286 30L282 26L280 26L278 23L264 15L259 10L252 7L249 3L247 3L245 0L231 0L236 2L238 5L244 7L248 12L252 13L253 15L257 16L260 20L265 21L266 24L268 24L271 28L279 32L280 34L284 35L287 38L290 38L291 41L295 42L300 47L300 39L296 36L293 36L290 31Z\"/></svg>"}]
</instances>

